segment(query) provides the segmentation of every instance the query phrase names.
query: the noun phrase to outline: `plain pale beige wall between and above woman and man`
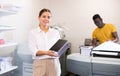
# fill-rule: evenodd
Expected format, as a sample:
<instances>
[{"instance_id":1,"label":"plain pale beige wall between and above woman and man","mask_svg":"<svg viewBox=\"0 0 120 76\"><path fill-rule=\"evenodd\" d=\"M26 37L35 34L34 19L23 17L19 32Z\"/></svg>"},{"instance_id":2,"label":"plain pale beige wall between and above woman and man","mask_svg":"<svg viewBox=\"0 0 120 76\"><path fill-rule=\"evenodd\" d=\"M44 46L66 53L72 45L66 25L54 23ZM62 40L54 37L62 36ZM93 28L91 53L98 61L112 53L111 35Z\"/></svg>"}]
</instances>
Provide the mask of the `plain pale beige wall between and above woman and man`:
<instances>
[{"instance_id":1,"label":"plain pale beige wall between and above woman and man","mask_svg":"<svg viewBox=\"0 0 120 76\"><path fill-rule=\"evenodd\" d=\"M51 0L54 23L65 24L66 39L72 43L72 52L79 52L85 38L91 38L95 25L92 16L99 13L105 23L120 26L120 0ZM120 29L119 29L120 30Z\"/></svg>"}]
</instances>

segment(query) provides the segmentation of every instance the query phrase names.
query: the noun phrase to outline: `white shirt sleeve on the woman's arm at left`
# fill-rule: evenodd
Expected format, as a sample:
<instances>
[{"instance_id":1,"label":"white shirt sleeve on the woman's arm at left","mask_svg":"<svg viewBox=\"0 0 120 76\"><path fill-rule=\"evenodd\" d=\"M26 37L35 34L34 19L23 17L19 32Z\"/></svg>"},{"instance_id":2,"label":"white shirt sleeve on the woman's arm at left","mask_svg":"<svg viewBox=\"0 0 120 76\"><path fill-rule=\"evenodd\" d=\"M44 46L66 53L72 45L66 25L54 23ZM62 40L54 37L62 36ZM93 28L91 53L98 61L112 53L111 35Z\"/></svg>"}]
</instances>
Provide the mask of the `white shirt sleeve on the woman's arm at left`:
<instances>
[{"instance_id":1,"label":"white shirt sleeve on the woman's arm at left","mask_svg":"<svg viewBox=\"0 0 120 76\"><path fill-rule=\"evenodd\" d=\"M29 49L32 52L33 56L36 56L36 52L38 51L37 46L36 46L36 39L35 36L32 32L29 33Z\"/></svg>"}]
</instances>

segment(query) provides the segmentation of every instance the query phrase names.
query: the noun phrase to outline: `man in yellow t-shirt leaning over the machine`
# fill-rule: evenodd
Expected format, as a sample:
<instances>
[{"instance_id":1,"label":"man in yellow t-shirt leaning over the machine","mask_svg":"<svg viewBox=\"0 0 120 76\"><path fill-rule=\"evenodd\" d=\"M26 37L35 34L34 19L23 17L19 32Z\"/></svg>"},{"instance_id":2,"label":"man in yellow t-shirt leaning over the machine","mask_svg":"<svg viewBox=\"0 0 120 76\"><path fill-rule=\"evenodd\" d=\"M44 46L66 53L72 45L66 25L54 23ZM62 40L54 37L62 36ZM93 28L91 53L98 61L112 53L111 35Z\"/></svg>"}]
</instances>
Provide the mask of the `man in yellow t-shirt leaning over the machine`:
<instances>
[{"instance_id":1,"label":"man in yellow t-shirt leaning over the machine","mask_svg":"<svg viewBox=\"0 0 120 76\"><path fill-rule=\"evenodd\" d=\"M119 41L116 27L113 24L104 23L99 14L93 16L93 21L97 26L92 33L93 47L109 40L115 43Z\"/></svg>"}]
</instances>

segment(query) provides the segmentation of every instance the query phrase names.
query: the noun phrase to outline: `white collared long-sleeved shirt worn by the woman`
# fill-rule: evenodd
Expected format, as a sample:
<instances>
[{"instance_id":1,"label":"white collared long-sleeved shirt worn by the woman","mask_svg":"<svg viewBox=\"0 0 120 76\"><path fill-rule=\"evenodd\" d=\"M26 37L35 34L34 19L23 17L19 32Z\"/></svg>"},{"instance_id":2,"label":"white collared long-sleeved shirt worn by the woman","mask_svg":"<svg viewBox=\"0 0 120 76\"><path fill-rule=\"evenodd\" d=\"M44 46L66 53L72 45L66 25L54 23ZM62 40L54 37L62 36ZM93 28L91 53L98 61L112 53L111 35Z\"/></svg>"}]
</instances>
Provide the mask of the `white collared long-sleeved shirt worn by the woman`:
<instances>
[{"instance_id":1,"label":"white collared long-sleeved shirt worn by the woman","mask_svg":"<svg viewBox=\"0 0 120 76\"><path fill-rule=\"evenodd\" d=\"M49 28L46 33L40 27L30 31L29 48L32 52L33 59L50 58L48 55L36 56L36 53L38 50L48 51L59 39L59 31L53 28Z\"/></svg>"}]
</instances>

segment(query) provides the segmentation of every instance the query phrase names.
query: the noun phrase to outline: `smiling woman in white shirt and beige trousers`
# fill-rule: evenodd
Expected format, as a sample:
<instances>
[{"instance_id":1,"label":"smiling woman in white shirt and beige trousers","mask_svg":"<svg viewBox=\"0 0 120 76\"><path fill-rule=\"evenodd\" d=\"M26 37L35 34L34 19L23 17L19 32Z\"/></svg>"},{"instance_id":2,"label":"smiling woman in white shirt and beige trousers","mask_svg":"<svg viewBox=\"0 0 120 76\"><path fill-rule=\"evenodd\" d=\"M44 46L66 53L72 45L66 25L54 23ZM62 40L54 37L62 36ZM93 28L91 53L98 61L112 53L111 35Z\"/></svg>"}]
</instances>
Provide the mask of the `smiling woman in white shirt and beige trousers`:
<instances>
[{"instance_id":1,"label":"smiling woman in white shirt and beige trousers","mask_svg":"<svg viewBox=\"0 0 120 76\"><path fill-rule=\"evenodd\" d=\"M29 35L29 47L33 54L33 76L60 76L60 62L54 51L49 50L59 39L59 31L49 28L51 12L42 9L38 16L39 27Z\"/></svg>"}]
</instances>

